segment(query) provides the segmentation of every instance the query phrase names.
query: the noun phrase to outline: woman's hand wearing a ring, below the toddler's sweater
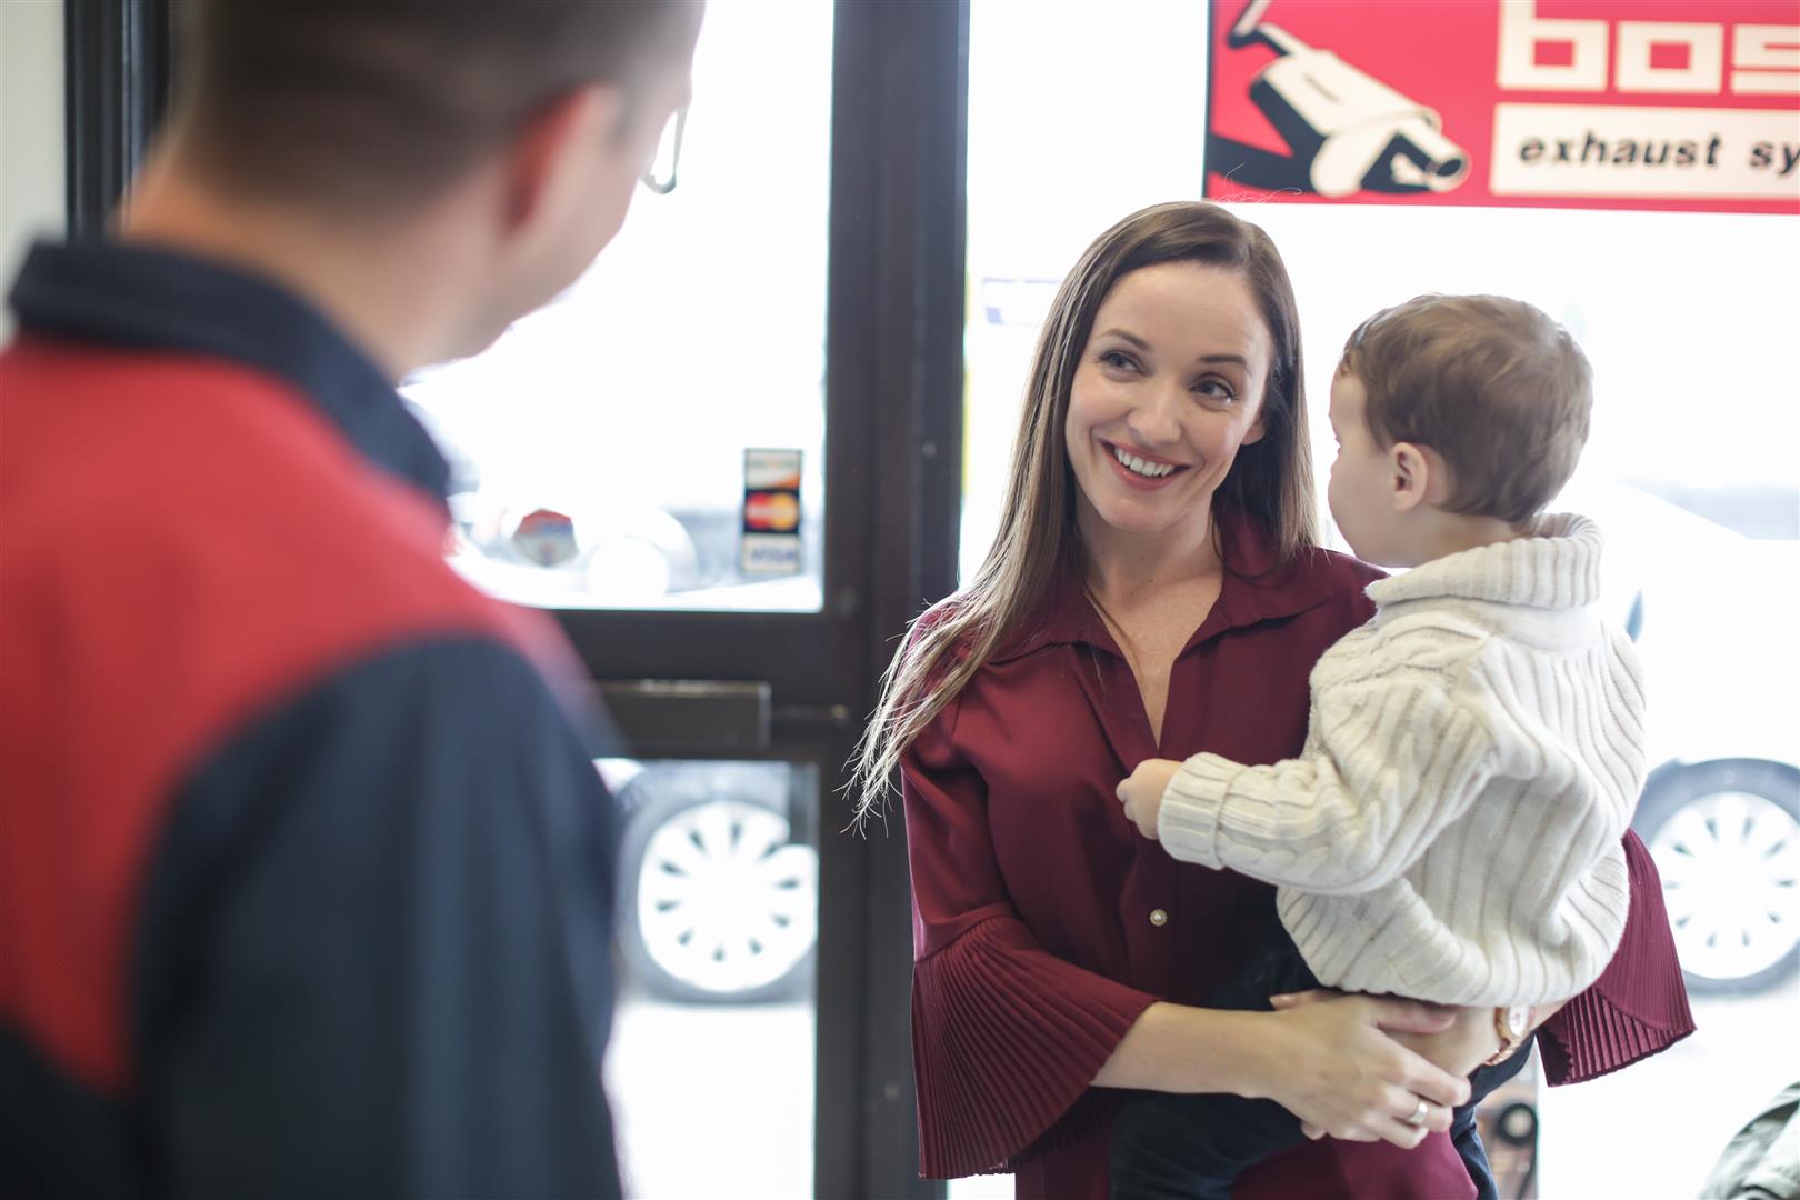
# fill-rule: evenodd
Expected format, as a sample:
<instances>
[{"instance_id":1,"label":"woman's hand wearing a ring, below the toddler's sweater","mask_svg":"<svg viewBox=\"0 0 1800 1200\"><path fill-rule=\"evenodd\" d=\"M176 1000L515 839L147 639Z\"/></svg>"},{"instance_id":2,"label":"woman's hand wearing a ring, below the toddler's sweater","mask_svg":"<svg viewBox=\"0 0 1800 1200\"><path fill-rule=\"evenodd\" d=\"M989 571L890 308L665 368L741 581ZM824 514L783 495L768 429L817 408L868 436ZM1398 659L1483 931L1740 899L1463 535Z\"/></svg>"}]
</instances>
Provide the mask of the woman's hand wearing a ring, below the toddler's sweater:
<instances>
[{"instance_id":1,"label":"woman's hand wearing a ring, below the toddler's sweater","mask_svg":"<svg viewBox=\"0 0 1800 1200\"><path fill-rule=\"evenodd\" d=\"M1451 1108L1469 1099L1469 1081L1390 1034L1433 1034L1453 1024L1451 1009L1417 1000L1309 993L1269 1020L1246 1094L1280 1103L1309 1137L1411 1150L1426 1133L1449 1128Z\"/></svg>"}]
</instances>

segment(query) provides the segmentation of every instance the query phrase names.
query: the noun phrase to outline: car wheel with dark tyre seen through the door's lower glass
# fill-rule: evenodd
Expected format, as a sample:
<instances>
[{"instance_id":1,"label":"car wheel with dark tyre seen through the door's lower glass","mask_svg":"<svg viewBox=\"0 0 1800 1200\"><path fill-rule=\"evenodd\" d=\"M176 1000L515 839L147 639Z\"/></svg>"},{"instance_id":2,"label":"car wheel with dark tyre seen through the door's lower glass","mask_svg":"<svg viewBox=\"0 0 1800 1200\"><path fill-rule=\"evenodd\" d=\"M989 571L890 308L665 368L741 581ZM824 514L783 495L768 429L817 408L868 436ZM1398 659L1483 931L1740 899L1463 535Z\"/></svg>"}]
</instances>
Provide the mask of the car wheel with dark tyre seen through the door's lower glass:
<instances>
[{"instance_id":1,"label":"car wheel with dark tyre seen through the door's lower glass","mask_svg":"<svg viewBox=\"0 0 1800 1200\"><path fill-rule=\"evenodd\" d=\"M646 772L621 847L619 946L652 995L749 1004L805 990L819 937L819 853L785 797ZM625 797L621 797L625 799Z\"/></svg>"}]
</instances>

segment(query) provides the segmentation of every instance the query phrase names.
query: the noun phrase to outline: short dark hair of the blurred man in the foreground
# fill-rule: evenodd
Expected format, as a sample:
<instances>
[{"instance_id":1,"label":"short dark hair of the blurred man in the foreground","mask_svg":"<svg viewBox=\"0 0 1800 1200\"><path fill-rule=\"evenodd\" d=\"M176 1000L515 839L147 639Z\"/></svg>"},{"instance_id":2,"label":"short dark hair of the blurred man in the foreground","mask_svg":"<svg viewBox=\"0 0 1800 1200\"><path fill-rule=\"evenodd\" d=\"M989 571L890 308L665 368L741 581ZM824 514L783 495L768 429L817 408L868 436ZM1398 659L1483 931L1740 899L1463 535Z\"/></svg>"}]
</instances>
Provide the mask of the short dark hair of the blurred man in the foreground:
<instances>
[{"instance_id":1,"label":"short dark hair of the blurred man in the foreground","mask_svg":"<svg viewBox=\"0 0 1800 1200\"><path fill-rule=\"evenodd\" d=\"M700 0L185 0L176 106L220 187L392 214L554 99L693 56Z\"/></svg>"}]
</instances>

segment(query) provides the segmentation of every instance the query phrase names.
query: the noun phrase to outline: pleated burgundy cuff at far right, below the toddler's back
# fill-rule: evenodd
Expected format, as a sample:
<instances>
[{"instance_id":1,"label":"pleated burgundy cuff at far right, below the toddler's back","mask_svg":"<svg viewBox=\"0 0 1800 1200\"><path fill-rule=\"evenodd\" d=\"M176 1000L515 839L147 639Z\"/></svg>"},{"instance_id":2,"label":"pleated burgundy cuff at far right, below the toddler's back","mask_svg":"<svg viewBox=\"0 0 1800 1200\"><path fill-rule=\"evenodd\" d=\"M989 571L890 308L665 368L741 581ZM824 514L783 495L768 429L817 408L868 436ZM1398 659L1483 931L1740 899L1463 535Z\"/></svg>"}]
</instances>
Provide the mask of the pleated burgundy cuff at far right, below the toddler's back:
<instances>
[{"instance_id":1,"label":"pleated burgundy cuff at far right, below the toddler's back","mask_svg":"<svg viewBox=\"0 0 1800 1200\"><path fill-rule=\"evenodd\" d=\"M1663 910L1661 880L1636 835L1625 837L1631 916L1618 952L1593 988L1539 1031L1552 1085L1582 1083L1629 1067L1694 1033L1681 964Z\"/></svg>"}]
</instances>

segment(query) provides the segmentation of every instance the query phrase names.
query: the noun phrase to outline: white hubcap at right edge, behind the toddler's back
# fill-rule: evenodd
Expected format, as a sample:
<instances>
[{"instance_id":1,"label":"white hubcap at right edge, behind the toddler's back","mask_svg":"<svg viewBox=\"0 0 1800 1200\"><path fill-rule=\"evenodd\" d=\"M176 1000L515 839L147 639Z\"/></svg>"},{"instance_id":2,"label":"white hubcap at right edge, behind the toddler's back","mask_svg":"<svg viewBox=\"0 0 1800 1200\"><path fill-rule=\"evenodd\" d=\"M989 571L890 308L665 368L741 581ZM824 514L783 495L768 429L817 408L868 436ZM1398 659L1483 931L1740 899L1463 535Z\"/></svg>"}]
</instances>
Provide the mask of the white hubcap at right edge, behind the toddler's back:
<instances>
[{"instance_id":1,"label":"white hubcap at right edge, behind the toddler's back","mask_svg":"<svg viewBox=\"0 0 1800 1200\"><path fill-rule=\"evenodd\" d=\"M1800 941L1800 824L1750 792L1714 792L1656 831L1651 856L1694 975L1746 979Z\"/></svg>"}]
</instances>

